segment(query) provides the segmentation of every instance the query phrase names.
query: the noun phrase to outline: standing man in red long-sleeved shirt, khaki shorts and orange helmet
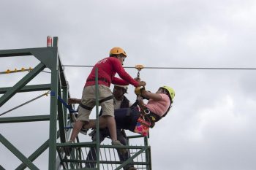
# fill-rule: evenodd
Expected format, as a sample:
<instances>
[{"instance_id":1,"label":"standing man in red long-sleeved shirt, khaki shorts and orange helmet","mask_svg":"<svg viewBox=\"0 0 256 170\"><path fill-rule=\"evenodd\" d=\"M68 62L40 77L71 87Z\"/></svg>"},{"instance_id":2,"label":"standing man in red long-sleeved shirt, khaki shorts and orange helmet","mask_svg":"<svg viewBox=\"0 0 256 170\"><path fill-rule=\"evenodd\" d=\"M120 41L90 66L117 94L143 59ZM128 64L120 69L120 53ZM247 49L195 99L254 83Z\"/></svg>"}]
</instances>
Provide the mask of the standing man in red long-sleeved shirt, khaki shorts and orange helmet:
<instances>
[{"instance_id":1,"label":"standing man in red long-sleeved shirt, khaki shorts and orange helmet","mask_svg":"<svg viewBox=\"0 0 256 170\"><path fill-rule=\"evenodd\" d=\"M75 122L69 142L75 142L75 138L78 136L80 129L83 125L89 123L89 115L91 109L94 108L95 101L95 69L98 69L98 82L99 82L99 104L102 107L102 121L106 123L113 145L121 145L116 137L116 121L114 118L114 106L113 106L113 94L110 90L110 84L116 85L129 85L132 84L135 87L145 86L146 82L134 80L123 68L124 59L127 54L120 47L113 47L110 50L110 57L103 58L98 61L94 68L91 70L89 77L86 80L86 85L83 88L83 95L81 104L78 109L78 117ZM119 77L114 77L116 73ZM65 149L67 155L69 155L71 148Z\"/></svg>"}]
</instances>

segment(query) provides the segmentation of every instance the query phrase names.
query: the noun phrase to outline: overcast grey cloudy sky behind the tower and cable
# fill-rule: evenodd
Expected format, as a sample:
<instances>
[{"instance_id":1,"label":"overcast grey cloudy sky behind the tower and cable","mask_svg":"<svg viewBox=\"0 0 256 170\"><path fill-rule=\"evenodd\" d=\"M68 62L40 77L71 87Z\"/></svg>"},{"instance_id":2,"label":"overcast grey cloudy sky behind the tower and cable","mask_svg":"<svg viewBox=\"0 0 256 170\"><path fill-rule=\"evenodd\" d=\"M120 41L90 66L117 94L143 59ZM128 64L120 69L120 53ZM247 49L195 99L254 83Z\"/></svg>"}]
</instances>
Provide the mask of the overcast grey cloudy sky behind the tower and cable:
<instances>
[{"instance_id":1,"label":"overcast grey cloudy sky behind the tower and cable","mask_svg":"<svg viewBox=\"0 0 256 170\"><path fill-rule=\"evenodd\" d=\"M59 37L64 65L94 65L112 47L127 52L124 66L256 68L254 0L1 1L0 50L45 47ZM34 67L34 57L0 58L0 72ZM46 69L47 71L47 69ZM80 98L90 69L65 67L72 97ZM135 77L135 69L127 69ZM151 129L154 170L255 170L255 70L143 69L146 89L169 85L173 108ZM0 75L0 87L25 73ZM47 83L39 74L30 85ZM134 88L127 97L135 101ZM14 96L7 109L40 93ZM47 115L49 96L2 117ZM46 107L45 107L46 106ZM24 125L25 124L25 125ZM1 124L0 132L29 156L48 139L48 123ZM89 138L88 138L89 141ZM20 163L0 144L0 163ZM35 161L48 169L48 152Z\"/></svg>"}]
</instances>

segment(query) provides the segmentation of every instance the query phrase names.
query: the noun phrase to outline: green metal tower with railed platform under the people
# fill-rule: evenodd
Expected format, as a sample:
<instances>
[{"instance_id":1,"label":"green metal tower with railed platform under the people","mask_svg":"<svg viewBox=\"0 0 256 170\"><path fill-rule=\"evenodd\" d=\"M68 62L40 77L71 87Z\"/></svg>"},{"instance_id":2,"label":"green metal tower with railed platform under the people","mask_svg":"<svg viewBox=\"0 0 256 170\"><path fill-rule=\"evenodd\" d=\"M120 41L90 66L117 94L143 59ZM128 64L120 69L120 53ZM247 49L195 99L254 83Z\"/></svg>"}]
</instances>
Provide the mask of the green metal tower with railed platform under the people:
<instances>
[{"instance_id":1,"label":"green metal tower with railed platform under the people","mask_svg":"<svg viewBox=\"0 0 256 170\"><path fill-rule=\"evenodd\" d=\"M61 58L58 53L58 37L53 38L53 47L39 47L17 50L0 50L0 58L19 57L32 55L40 62L34 69L21 78L12 87L0 87L0 107L7 103L16 93L26 93L34 91L50 91L50 108L48 115L34 115L21 117L1 117L0 123L26 123L49 121L50 131L49 139L37 148L28 158L18 150L14 144L8 141L0 134L0 142L7 147L22 163L16 169L39 169L33 161L36 160L45 150L49 149L48 169L122 169L127 163L132 163L137 169L151 169L151 150L148 146L148 138L140 135L127 136L128 139L143 140L140 146L133 146L131 142L128 146L112 146L99 144L99 128L97 128L97 142L80 142L77 138L75 144L67 143L69 139L70 123L72 122L72 113L67 109L67 98L69 98L69 87L61 64ZM27 85L34 77L42 72L45 68L50 69L50 83ZM97 74L97 72L96 72ZM0 75L1 76L1 75ZM96 78L96 82L97 82ZM96 94L98 98L98 93ZM71 106L69 106L71 107ZM96 117L98 118L99 102L96 104ZM59 126L59 128L57 128ZM97 127L99 123L97 123ZM36 137L36 136L35 136ZM59 142L58 142L59 141ZM73 148L70 157L67 157L63 147L70 146ZM85 163L88 150L93 147L97 150L97 160L95 168L86 168ZM116 150L114 148L124 147L131 152L131 158L127 161L118 161ZM133 160L133 161L132 161ZM0 169L4 169L0 166Z\"/></svg>"}]
</instances>

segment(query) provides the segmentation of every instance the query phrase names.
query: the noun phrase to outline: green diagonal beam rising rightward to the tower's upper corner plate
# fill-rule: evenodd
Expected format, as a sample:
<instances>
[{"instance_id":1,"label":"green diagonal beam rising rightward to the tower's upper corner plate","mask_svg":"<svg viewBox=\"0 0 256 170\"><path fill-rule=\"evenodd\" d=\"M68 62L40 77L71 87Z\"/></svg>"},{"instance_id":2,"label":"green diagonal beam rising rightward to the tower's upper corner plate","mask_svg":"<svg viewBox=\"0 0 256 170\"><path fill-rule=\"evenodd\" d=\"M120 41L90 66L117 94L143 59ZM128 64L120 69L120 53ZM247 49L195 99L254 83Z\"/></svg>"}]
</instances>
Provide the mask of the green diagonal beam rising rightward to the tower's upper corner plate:
<instances>
[{"instance_id":1,"label":"green diagonal beam rising rightward to the tower's upper corner plate","mask_svg":"<svg viewBox=\"0 0 256 170\"><path fill-rule=\"evenodd\" d=\"M17 82L12 88L7 90L3 96L0 98L0 107L3 106L12 96L15 95L21 88L23 88L28 82L30 82L34 77L39 74L43 69L45 69L45 65L43 63L39 63L31 72L26 74L19 82Z\"/></svg>"}]
</instances>

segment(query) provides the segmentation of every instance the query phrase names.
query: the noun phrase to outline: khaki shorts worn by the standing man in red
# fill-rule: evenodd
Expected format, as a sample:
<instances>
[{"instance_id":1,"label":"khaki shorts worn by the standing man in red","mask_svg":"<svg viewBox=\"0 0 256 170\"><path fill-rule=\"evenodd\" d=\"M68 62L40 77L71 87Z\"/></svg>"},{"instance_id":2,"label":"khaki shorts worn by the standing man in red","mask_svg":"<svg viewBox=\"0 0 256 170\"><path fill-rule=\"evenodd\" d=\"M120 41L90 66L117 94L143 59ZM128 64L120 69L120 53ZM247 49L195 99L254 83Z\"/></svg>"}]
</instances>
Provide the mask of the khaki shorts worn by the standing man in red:
<instances>
[{"instance_id":1,"label":"khaki shorts worn by the standing man in red","mask_svg":"<svg viewBox=\"0 0 256 170\"><path fill-rule=\"evenodd\" d=\"M95 97L95 85L89 85L83 88L83 96L81 103L86 105L86 107L94 108L96 104ZM108 96L112 96L112 92L110 88L105 85L99 85L99 101L107 98ZM114 117L114 101L113 98L102 102L100 106L102 107L102 116L113 116ZM77 120L89 122L89 116L91 114L91 110L84 109L83 107L78 108L78 118Z\"/></svg>"}]
</instances>

